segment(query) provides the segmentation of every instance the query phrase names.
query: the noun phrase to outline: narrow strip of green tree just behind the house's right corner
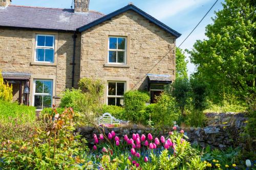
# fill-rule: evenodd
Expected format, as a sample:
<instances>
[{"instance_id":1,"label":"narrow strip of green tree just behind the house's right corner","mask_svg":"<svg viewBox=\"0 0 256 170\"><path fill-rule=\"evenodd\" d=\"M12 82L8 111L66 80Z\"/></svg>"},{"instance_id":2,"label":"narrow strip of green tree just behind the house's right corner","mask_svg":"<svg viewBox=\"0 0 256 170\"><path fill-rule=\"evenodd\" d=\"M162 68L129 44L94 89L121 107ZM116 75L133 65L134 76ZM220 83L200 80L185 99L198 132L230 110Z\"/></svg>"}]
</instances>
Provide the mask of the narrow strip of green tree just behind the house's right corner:
<instances>
[{"instance_id":1,"label":"narrow strip of green tree just behind the house's right corner","mask_svg":"<svg viewBox=\"0 0 256 170\"><path fill-rule=\"evenodd\" d=\"M187 79L187 63L186 56L181 48L176 48L176 78Z\"/></svg>"}]
</instances>

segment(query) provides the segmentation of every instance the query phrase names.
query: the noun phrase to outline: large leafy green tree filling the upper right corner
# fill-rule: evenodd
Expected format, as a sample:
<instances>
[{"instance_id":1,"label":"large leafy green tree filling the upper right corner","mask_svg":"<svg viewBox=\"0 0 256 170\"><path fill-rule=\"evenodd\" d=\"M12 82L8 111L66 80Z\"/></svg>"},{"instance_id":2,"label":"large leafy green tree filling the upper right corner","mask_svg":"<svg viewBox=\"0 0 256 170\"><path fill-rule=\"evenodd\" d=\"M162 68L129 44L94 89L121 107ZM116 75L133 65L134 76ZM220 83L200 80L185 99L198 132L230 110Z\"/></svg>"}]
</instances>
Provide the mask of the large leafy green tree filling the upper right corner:
<instances>
[{"instance_id":1,"label":"large leafy green tree filling the upper right corner","mask_svg":"<svg viewBox=\"0 0 256 170\"><path fill-rule=\"evenodd\" d=\"M240 97L255 96L255 8L247 0L226 0L216 12L214 23L206 27L207 39L197 40L194 50L187 51L215 94L231 89ZM219 95L220 96L220 95Z\"/></svg>"}]
</instances>

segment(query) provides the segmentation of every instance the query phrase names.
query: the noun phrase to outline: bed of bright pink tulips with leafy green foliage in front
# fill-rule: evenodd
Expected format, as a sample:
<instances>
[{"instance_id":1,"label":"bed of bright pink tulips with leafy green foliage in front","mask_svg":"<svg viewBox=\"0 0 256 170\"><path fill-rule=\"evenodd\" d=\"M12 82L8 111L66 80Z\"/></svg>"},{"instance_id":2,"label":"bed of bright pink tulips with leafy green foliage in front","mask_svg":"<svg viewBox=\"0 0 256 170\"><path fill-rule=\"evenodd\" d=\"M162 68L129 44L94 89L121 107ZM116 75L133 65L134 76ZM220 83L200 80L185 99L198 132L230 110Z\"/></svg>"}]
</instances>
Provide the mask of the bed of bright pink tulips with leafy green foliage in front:
<instances>
[{"instance_id":1,"label":"bed of bright pink tulips with leafy green foliage in front","mask_svg":"<svg viewBox=\"0 0 256 170\"><path fill-rule=\"evenodd\" d=\"M149 134L124 135L114 131L104 136L93 135L93 153L87 167L98 169L205 169L206 164L196 149L184 138L184 131L169 132L160 139Z\"/></svg>"}]
</instances>

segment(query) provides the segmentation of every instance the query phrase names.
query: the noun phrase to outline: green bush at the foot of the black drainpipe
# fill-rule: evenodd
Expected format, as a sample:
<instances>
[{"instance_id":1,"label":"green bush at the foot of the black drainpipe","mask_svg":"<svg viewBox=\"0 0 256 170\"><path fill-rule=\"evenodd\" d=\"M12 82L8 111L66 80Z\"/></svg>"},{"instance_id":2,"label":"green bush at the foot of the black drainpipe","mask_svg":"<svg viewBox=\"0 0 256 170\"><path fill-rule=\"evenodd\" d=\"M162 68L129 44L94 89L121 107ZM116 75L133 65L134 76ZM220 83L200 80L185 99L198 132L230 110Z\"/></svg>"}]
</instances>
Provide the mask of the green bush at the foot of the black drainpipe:
<instances>
[{"instance_id":1,"label":"green bush at the foot of the black drainpipe","mask_svg":"<svg viewBox=\"0 0 256 170\"><path fill-rule=\"evenodd\" d=\"M66 89L61 94L59 107L72 107L74 110L77 110L76 100L79 99L82 95L80 89Z\"/></svg>"}]
</instances>

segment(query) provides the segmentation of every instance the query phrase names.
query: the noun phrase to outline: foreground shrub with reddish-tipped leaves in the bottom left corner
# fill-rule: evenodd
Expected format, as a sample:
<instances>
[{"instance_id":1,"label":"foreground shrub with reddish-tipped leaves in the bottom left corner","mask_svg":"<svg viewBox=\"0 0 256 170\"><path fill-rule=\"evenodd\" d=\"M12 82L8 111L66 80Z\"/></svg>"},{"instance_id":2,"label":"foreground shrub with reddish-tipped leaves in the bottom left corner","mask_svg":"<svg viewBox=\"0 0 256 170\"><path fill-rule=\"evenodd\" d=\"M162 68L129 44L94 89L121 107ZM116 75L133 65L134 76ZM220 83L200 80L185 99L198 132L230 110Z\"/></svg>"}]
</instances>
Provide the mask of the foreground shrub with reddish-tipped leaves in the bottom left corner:
<instances>
[{"instance_id":1,"label":"foreground shrub with reddish-tipped leaves in the bottom left corner","mask_svg":"<svg viewBox=\"0 0 256 170\"><path fill-rule=\"evenodd\" d=\"M49 115L48 128L38 129L25 141L6 141L0 145L2 169L84 169L85 140L74 136L73 109Z\"/></svg>"}]
</instances>

